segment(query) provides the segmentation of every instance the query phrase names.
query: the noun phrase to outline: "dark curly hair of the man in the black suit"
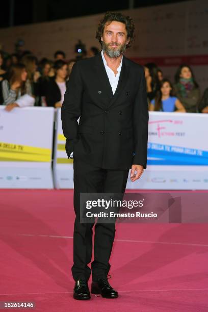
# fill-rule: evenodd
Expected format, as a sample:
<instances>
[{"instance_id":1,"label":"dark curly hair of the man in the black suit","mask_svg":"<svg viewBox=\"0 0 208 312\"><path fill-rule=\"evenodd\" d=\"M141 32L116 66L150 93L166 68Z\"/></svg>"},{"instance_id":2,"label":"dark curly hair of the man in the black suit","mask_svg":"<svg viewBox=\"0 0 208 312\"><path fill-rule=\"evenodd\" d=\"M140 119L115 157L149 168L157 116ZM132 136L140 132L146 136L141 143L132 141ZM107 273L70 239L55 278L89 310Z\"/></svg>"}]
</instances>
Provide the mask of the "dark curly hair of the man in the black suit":
<instances>
[{"instance_id":1,"label":"dark curly hair of the man in the black suit","mask_svg":"<svg viewBox=\"0 0 208 312\"><path fill-rule=\"evenodd\" d=\"M108 21L112 22L114 20L125 24L127 39L129 39L129 43L126 44L126 48L131 47L135 38L135 25L131 17L125 16L121 13L107 12L105 16L99 21L95 38L98 39L99 43L102 45L101 37L103 36L105 24Z\"/></svg>"}]
</instances>

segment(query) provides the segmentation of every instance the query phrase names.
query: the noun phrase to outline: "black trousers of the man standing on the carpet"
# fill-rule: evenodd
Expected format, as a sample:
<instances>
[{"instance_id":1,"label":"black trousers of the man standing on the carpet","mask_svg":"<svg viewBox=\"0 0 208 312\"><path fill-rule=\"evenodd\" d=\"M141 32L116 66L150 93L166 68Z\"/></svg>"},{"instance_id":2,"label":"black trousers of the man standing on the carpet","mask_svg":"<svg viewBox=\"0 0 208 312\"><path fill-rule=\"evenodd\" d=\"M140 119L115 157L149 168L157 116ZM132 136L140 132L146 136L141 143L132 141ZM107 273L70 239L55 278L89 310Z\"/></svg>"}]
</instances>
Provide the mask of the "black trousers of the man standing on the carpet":
<instances>
[{"instance_id":1,"label":"black trousers of the man standing on the carpet","mask_svg":"<svg viewBox=\"0 0 208 312\"><path fill-rule=\"evenodd\" d=\"M74 280L81 277L93 281L106 277L111 265L109 263L114 237L115 223L80 223L80 193L124 193L129 170L109 170L89 165L80 160L73 160L74 169L74 233L73 266ZM95 226L94 226L95 225ZM94 261L91 269L88 264L92 258L92 228L94 226Z\"/></svg>"}]
</instances>

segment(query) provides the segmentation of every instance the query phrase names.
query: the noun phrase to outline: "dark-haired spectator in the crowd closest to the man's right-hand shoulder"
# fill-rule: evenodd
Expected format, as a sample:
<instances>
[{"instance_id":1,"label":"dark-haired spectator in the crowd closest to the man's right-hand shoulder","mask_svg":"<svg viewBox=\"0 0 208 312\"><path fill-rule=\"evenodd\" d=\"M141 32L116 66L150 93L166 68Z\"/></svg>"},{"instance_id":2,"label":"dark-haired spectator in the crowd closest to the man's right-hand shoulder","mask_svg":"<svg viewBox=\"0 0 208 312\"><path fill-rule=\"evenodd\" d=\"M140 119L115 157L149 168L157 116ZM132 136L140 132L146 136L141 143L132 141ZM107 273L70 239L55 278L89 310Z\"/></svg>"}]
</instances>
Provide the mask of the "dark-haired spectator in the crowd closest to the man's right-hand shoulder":
<instances>
[{"instance_id":1,"label":"dark-haired spectator in the crowd closest to the man's right-hand shoulder","mask_svg":"<svg viewBox=\"0 0 208 312\"><path fill-rule=\"evenodd\" d=\"M151 101L159 90L158 68L154 63L144 65L146 77L147 97Z\"/></svg>"}]
</instances>

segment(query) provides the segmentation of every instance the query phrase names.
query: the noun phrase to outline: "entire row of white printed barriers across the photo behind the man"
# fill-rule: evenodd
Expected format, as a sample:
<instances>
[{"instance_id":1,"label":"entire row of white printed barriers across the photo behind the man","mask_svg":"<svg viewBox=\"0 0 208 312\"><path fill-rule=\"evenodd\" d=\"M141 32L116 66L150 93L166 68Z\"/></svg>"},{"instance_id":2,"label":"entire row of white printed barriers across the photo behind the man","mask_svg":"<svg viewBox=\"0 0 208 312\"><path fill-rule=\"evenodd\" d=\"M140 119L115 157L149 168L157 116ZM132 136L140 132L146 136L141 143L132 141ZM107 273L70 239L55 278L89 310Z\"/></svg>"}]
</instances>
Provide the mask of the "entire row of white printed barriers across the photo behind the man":
<instances>
[{"instance_id":1,"label":"entire row of white printed barriers across the photo behind the man","mask_svg":"<svg viewBox=\"0 0 208 312\"><path fill-rule=\"evenodd\" d=\"M53 188L51 148L56 113L55 187L73 188L73 160L65 151L61 111L0 107L0 188ZM208 190L206 114L149 113L147 169L126 189Z\"/></svg>"}]
</instances>

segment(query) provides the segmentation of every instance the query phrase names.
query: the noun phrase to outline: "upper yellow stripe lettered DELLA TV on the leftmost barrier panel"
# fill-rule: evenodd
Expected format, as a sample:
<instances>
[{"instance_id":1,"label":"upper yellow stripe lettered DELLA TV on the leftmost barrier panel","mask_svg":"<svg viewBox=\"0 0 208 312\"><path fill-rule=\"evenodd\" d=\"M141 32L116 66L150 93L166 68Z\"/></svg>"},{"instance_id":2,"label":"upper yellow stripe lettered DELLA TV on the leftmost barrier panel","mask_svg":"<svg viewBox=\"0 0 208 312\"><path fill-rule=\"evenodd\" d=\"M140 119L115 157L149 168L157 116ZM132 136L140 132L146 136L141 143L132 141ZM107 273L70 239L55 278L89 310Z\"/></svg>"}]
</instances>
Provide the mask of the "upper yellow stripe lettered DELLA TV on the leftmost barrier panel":
<instances>
[{"instance_id":1,"label":"upper yellow stripe lettered DELLA TV on the leftmost barrier panel","mask_svg":"<svg viewBox=\"0 0 208 312\"><path fill-rule=\"evenodd\" d=\"M28 146L22 144L14 144L14 143L6 143L0 142L0 153L1 151L7 152L16 152L16 153L30 153L30 154L39 154L45 155L50 157L51 149L44 148L44 147L35 147L35 146Z\"/></svg>"}]
</instances>

